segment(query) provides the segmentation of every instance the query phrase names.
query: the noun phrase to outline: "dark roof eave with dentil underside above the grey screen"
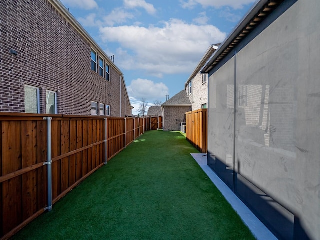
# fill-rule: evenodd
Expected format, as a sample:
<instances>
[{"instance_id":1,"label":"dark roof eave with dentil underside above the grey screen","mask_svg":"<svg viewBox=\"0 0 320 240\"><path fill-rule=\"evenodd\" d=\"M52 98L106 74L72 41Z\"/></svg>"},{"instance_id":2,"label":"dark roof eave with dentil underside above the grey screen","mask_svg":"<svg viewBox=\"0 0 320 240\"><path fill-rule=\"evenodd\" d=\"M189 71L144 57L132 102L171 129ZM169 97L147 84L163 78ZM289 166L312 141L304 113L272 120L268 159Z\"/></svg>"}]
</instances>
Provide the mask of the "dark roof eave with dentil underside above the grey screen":
<instances>
[{"instance_id":1,"label":"dark roof eave with dentil underside above the grey screen","mask_svg":"<svg viewBox=\"0 0 320 240\"><path fill-rule=\"evenodd\" d=\"M267 17L283 0L259 0L235 26L221 43L212 57L201 69L201 74L209 73L232 49L241 42L262 20Z\"/></svg>"}]
</instances>

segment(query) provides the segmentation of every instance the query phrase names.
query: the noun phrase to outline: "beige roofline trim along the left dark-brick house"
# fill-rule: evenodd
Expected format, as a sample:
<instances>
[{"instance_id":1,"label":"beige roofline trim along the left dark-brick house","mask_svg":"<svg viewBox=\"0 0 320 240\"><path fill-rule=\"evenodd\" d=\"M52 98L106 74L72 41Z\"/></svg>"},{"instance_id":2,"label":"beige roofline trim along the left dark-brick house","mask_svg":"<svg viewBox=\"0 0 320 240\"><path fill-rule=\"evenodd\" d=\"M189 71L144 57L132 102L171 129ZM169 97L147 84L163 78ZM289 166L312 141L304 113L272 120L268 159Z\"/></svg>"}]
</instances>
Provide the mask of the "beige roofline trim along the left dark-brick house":
<instances>
[{"instance_id":1,"label":"beige roofline trim along the left dark-brick house","mask_svg":"<svg viewBox=\"0 0 320 240\"><path fill-rule=\"evenodd\" d=\"M55 9L57 9L58 12L60 12L69 21L69 23L71 23L71 25L91 44L91 46L94 46L99 51L99 54L103 55L103 58L106 59L108 63L112 65L114 69L116 69L116 71L122 76L126 95L128 96L129 100L129 105L131 109L133 109L129 94L126 89L123 72L115 65L113 61L110 60L110 57L104 52L104 50L96 43L96 41L90 36L90 34L83 28L83 26L81 26L81 24L75 19L75 17L70 13L70 11L67 10L59 0L48 1L55 7Z\"/></svg>"}]
</instances>

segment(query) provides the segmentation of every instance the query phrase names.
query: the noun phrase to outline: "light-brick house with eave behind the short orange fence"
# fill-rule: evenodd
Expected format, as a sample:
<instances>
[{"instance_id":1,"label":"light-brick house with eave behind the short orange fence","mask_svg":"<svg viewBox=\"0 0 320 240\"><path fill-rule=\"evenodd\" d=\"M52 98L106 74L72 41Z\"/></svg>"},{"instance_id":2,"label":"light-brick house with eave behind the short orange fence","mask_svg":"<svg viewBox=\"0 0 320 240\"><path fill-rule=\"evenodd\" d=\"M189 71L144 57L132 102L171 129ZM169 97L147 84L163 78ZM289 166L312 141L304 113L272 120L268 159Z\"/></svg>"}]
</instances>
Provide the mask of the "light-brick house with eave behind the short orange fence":
<instances>
[{"instance_id":1,"label":"light-brick house with eave behind the short orange fence","mask_svg":"<svg viewBox=\"0 0 320 240\"><path fill-rule=\"evenodd\" d=\"M218 49L219 45L220 43L209 46L202 59L190 75L189 79L185 82L184 90L186 91L192 104L192 111L201 108L207 108L208 75L201 74L200 70L208 61L208 59L213 55L216 49Z\"/></svg>"}]
</instances>

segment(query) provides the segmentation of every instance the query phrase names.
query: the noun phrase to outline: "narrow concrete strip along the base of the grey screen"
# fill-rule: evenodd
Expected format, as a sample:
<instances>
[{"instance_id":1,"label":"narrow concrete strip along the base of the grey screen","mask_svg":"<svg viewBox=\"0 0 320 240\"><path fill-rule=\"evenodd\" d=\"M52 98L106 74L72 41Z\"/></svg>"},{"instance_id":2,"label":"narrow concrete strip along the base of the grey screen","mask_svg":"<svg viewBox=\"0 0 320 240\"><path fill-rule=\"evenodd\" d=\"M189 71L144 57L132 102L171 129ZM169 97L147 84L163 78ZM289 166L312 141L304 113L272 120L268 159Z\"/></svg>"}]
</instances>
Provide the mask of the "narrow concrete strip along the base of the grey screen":
<instances>
[{"instance_id":1,"label":"narrow concrete strip along the base of the grey screen","mask_svg":"<svg viewBox=\"0 0 320 240\"><path fill-rule=\"evenodd\" d=\"M277 239L249 210L249 208L247 208L247 206L231 191L231 189L214 173L214 171L211 170L211 168L207 165L207 156L205 153L191 153L191 155L211 179L214 185L219 189L225 199L231 204L233 209L238 213L244 224L248 226L256 239Z\"/></svg>"}]
</instances>

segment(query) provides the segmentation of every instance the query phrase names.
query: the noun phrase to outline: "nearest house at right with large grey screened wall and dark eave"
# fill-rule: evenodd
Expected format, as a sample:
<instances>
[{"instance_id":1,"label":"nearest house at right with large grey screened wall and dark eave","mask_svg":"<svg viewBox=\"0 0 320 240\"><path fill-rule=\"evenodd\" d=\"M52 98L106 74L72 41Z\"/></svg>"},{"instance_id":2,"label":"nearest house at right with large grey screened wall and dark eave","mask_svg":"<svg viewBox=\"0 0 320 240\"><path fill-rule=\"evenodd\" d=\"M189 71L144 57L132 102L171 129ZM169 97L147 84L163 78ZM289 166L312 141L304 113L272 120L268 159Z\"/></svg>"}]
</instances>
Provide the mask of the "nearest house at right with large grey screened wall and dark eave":
<instances>
[{"instance_id":1,"label":"nearest house at right with large grey screened wall and dark eave","mask_svg":"<svg viewBox=\"0 0 320 240\"><path fill-rule=\"evenodd\" d=\"M319 9L257 1L201 71L208 166L279 239L320 239Z\"/></svg>"}]
</instances>

